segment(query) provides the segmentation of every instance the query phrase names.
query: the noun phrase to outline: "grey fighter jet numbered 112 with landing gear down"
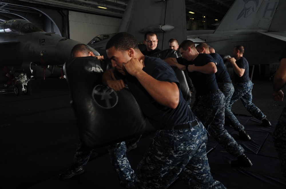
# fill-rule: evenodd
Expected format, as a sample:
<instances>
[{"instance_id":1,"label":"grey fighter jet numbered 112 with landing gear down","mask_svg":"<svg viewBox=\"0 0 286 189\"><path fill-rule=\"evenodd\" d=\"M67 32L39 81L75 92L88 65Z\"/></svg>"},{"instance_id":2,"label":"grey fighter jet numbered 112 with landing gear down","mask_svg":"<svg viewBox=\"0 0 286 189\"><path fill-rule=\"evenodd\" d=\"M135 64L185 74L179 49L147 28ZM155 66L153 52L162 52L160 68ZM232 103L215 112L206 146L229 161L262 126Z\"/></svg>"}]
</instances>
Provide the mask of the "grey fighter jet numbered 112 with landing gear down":
<instances>
[{"instance_id":1,"label":"grey fighter jet numbered 112 with landing gear down","mask_svg":"<svg viewBox=\"0 0 286 189\"><path fill-rule=\"evenodd\" d=\"M71 57L72 48L81 42L47 33L23 19L0 24L0 83L14 88L16 96L31 94L28 81L45 78L55 65L62 66ZM95 55L99 53L91 48ZM51 66L51 67L50 67ZM48 68L49 69L46 69Z\"/></svg>"}]
</instances>

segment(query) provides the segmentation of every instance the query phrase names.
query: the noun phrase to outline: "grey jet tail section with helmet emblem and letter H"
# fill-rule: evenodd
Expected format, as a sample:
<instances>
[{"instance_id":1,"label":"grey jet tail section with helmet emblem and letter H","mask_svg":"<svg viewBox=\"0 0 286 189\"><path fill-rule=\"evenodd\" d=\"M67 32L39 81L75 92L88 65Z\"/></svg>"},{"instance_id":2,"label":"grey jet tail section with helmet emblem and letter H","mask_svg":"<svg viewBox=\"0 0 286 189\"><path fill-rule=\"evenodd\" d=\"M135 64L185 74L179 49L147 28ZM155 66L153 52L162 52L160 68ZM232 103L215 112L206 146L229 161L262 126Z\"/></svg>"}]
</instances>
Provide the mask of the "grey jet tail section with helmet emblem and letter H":
<instances>
[{"instance_id":1,"label":"grey jet tail section with helmet emblem and letter H","mask_svg":"<svg viewBox=\"0 0 286 189\"><path fill-rule=\"evenodd\" d=\"M187 38L219 54L232 55L242 45L250 65L278 63L286 46L285 10L283 0L236 0L216 30L187 31Z\"/></svg>"}]
</instances>

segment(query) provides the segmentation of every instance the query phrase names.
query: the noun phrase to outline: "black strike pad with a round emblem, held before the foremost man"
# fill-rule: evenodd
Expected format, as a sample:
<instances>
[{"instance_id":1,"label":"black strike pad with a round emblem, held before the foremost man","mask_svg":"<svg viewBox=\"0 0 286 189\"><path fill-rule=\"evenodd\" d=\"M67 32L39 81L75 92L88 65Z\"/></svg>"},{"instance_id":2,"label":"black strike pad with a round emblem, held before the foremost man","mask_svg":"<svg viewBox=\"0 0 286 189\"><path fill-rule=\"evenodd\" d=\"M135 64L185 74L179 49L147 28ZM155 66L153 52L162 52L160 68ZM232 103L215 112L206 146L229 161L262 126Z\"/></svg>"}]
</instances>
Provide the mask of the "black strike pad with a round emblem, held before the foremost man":
<instances>
[{"instance_id":1,"label":"black strike pad with a round emblem, held before the foremost man","mask_svg":"<svg viewBox=\"0 0 286 189\"><path fill-rule=\"evenodd\" d=\"M131 92L115 92L101 85L106 67L94 57L65 63L80 139L93 148L132 139L145 129L144 116Z\"/></svg>"}]
</instances>

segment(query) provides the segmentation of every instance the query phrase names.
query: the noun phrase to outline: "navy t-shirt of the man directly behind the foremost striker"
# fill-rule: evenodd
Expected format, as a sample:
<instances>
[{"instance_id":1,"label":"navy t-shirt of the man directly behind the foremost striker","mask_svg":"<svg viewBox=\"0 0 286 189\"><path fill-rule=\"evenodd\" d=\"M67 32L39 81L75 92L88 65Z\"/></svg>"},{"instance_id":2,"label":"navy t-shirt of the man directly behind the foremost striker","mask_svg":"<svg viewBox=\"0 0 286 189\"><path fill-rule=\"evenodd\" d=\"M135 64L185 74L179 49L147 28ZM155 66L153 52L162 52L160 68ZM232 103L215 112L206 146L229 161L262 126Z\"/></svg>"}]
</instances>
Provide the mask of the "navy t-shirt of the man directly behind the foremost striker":
<instances>
[{"instance_id":1,"label":"navy t-shirt of the man directly behind the foremost striker","mask_svg":"<svg viewBox=\"0 0 286 189\"><path fill-rule=\"evenodd\" d=\"M195 66L203 66L209 62L215 63L215 60L209 54L200 53L193 61L187 61L182 57L177 58L179 64L185 65L186 69L188 65L194 64ZM209 91L219 89L215 74L205 74L198 71L189 72L188 76L192 79L193 85L196 89L196 95L205 95Z\"/></svg>"}]
</instances>

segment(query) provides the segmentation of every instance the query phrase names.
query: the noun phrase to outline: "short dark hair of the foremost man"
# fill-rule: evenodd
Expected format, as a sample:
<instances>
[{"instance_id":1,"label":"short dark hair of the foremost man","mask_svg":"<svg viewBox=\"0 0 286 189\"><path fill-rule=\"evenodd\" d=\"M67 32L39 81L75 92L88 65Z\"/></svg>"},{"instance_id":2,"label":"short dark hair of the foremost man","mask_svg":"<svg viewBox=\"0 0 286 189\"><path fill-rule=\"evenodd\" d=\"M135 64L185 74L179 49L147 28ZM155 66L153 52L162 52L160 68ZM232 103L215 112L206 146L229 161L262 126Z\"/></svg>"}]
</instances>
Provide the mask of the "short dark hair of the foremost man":
<instances>
[{"instance_id":1,"label":"short dark hair of the foremost man","mask_svg":"<svg viewBox=\"0 0 286 189\"><path fill-rule=\"evenodd\" d=\"M125 51L130 48L133 48L136 52L140 51L136 38L127 32L117 33L112 38L110 38L106 44L105 49L108 50L112 47L119 51Z\"/></svg>"}]
</instances>

